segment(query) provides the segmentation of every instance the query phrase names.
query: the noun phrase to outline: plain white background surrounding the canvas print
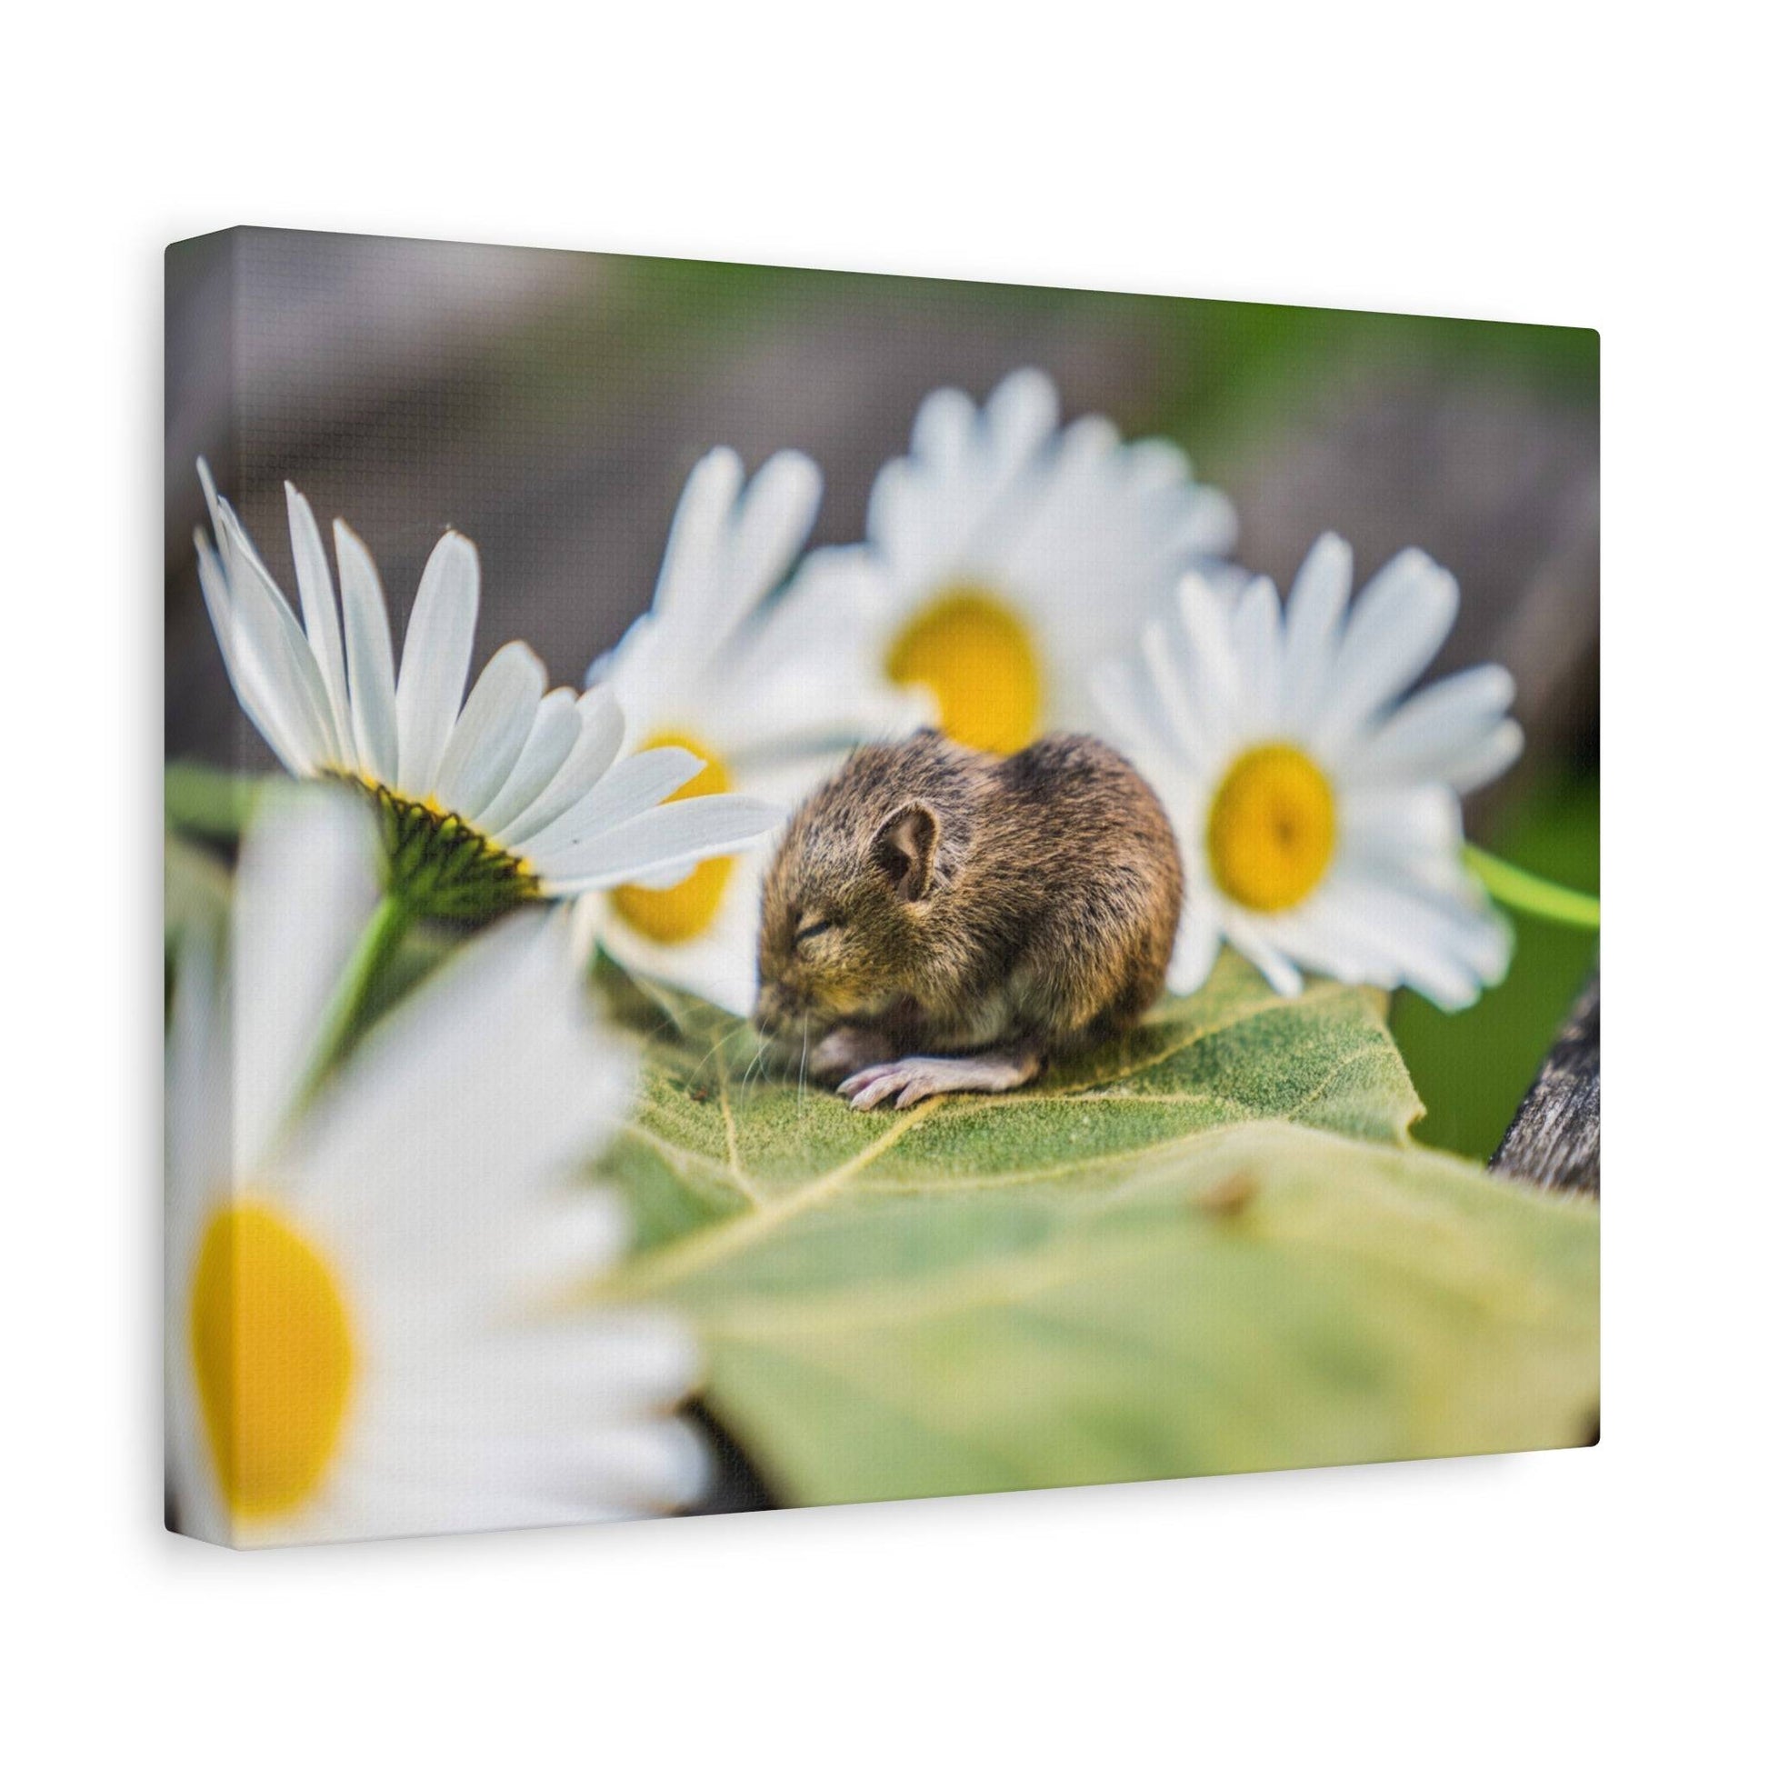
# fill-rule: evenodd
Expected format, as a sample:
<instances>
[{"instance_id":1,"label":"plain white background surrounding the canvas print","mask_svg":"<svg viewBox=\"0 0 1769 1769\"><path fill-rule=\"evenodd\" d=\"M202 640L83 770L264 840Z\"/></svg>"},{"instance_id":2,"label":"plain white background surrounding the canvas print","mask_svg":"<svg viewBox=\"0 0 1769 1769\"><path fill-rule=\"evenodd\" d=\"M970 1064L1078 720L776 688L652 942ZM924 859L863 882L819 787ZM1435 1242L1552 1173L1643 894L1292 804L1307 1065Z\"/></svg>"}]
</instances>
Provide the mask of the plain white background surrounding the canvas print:
<instances>
[{"instance_id":1,"label":"plain white background surrounding the canvas print","mask_svg":"<svg viewBox=\"0 0 1769 1769\"><path fill-rule=\"evenodd\" d=\"M1742 9L46 16L9 27L0 115L12 1760L1739 1753L1769 851ZM159 251L234 221L1599 327L1601 1449L258 1557L163 1535Z\"/></svg>"}]
</instances>

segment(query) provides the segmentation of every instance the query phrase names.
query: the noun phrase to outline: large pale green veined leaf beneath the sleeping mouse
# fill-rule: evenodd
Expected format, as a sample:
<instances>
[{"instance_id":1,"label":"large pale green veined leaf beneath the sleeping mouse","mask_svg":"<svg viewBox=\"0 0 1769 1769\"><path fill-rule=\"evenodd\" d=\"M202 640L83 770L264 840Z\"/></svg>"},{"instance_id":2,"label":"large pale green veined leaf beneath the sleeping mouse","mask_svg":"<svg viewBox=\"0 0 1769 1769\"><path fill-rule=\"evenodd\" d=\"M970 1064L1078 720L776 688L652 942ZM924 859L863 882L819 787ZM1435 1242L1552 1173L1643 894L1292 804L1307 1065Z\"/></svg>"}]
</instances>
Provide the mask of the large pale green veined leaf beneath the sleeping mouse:
<instances>
[{"instance_id":1,"label":"large pale green veined leaf beneath the sleeping mouse","mask_svg":"<svg viewBox=\"0 0 1769 1769\"><path fill-rule=\"evenodd\" d=\"M1003 1097L854 1113L655 998L619 1293L801 1504L1585 1442L1597 1215L1408 1137L1382 996L1224 959Z\"/></svg>"}]
</instances>

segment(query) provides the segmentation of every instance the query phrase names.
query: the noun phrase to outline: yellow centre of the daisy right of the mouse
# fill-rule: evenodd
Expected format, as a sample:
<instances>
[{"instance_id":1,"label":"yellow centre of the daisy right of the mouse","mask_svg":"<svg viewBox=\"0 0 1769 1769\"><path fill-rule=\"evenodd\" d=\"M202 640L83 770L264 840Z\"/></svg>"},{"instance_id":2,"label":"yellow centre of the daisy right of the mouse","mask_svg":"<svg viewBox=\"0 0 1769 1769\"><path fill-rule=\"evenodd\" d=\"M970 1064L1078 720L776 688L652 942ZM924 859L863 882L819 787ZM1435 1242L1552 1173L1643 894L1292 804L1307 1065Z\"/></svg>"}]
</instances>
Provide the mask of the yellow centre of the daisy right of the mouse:
<instances>
[{"instance_id":1,"label":"yellow centre of the daisy right of the mouse","mask_svg":"<svg viewBox=\"0 0 1769 1769\"><path fill-rule=\"evenodd\" d=\"M1222 777L1210 807L1210 870L1247 909L1293 909L1332 863L1332 784L1302 750L1267 743Z\"/></svg>"}]
</instances>

